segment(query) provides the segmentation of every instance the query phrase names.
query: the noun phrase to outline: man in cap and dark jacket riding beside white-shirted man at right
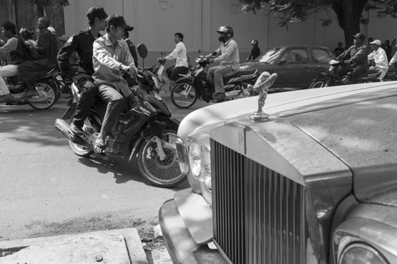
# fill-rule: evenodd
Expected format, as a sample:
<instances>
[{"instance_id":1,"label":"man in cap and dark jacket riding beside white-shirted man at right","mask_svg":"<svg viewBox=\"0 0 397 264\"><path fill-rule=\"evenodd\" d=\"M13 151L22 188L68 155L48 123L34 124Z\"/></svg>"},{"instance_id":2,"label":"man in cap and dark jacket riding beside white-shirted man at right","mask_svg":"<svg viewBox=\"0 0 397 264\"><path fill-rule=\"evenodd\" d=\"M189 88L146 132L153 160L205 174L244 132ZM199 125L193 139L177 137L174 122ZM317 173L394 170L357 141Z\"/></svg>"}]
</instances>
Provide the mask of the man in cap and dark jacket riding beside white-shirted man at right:
<instances>
[{"instance_id":1,"label":"man in cap and dark jacket riding beside white-shirted man at right","mask_svg":"<svg viewBox=\"0 0 397 264\"><path fill-rule=\"evenodd\" d=\"M343 76L352 72L352 81L357 82L358 76L368 72L368 48L364 45L365 36L357 33L353 45L337 56L338 61L344 61L346 65L339 65L338 75Z\"/></svg>"}]
</instances>

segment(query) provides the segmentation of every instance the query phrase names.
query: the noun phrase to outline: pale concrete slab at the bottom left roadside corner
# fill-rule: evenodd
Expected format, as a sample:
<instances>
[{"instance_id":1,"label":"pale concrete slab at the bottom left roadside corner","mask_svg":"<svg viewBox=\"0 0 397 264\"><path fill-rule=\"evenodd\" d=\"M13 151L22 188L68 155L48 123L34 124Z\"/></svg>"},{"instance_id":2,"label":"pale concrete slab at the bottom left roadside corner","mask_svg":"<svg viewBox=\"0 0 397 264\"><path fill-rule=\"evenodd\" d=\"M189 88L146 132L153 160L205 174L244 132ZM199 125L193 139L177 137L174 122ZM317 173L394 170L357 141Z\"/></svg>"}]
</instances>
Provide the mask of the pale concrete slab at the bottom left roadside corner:
<instances>
[{"instance_id":1,"label":"pale concrete slab at the bottom left roadside corner","mask_svg":"<svg viewBox=\"0 0 397 264\"><path fill-rule=\"evenodd\" d=\"M0 264L148 264L136 228L0 242Z\"/></svg>"}]
</instances>

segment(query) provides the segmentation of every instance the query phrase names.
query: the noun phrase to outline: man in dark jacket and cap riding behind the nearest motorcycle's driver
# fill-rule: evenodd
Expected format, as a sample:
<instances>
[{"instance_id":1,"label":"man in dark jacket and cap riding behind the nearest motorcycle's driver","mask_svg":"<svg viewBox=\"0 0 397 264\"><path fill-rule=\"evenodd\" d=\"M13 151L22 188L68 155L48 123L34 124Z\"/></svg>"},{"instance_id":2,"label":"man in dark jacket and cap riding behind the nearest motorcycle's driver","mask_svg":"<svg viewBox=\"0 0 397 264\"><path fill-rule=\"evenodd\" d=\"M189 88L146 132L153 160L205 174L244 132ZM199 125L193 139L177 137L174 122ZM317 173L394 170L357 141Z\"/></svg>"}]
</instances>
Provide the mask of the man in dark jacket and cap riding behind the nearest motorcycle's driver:
<instances>
[{"instance_id":1,"label":"man in dark jacket and cap riding behind the nearest motorcycle's driver","mask_svg":"<svg viewBox=\"0 0 397 264\"><path fill-rule=\"evenodd\" d=\"M100 38L100 31L105 29L104 20L108 17L102 6L93 6L88 9L88 29L80 31L68 39L68 41L59 50L57 59L61 72L73 79L77 88L81 92L79 102L77 102L75 116L70 123L73 132L81 133L84 120L88 116L91 105L94 102L95 95L98 94L98 88L91 77L93 69L93 43L95 39ZM72 66L70 59L73 52L79 54L78 68Z\"/></svg>"}]
</instances>

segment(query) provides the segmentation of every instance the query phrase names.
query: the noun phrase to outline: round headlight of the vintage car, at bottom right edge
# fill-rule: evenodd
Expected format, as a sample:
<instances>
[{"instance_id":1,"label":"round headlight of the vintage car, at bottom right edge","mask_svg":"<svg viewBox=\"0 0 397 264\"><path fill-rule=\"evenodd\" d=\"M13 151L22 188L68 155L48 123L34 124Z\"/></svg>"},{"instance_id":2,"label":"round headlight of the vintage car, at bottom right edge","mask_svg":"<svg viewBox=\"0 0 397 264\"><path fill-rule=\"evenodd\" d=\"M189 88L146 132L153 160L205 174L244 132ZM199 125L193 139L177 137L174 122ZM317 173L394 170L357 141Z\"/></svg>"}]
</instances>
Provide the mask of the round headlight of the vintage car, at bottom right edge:
<instances>
[{"instance_id":1,"label":"round headlight of the vintage car, at bottom right edge","mask_svg":"<svg viewBox=\"0 0 397 264\"><path fill-rule=\"evenodd\" d=\"M338 264L388 264L380 252L364 243L353 243L346 247Z\"/></svg>"}]
</instances>

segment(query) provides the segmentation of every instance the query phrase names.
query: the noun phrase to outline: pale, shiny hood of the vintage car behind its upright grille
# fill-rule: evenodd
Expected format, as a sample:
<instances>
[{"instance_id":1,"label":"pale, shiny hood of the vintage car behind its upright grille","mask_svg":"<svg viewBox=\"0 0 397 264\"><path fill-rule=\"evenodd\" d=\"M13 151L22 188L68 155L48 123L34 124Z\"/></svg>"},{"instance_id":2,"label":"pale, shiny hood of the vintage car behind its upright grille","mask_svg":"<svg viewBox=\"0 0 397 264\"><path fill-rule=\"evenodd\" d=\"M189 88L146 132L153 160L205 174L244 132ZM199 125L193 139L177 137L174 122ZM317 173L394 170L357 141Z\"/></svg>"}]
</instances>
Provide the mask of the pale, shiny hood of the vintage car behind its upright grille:
<instances>
[{"instance_id":1,"label":"pale, shiny hood of the vintage car behind its upright grille","mask_svg":"<svg viewBox=\"0 0 397 264\"><path fill-rule=\"evenodd\" d=\"M384 194L397 183L396 96L397 82L335 86L274 93L263 110L298 127L347 165L357 199L396 205L394 196ZM257 105L253 97L198 109L184 118L178 134L210 133L233 122L255 128L249 114Z\"/></svg>"}]
</instances>

